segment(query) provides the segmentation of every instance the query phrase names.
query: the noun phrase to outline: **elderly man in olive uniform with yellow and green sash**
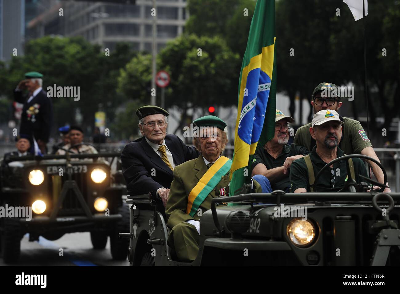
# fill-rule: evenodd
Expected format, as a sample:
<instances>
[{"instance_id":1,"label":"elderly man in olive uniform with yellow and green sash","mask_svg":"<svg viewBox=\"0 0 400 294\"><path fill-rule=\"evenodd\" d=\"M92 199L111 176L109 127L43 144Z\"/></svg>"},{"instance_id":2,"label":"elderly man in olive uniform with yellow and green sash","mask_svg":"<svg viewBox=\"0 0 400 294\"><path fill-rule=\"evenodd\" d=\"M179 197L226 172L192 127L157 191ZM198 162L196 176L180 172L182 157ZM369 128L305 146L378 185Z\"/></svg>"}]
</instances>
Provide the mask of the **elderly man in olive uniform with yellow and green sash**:
<instances>
[{"instance_id":1,"label":"elderly man in olive uniform with yellow and green sash","mask_svg":"<svg viewBox=\"0 0 400 294\"><path fill-rule=\"evenodd\" d=\"M191 262L197 257L200 217L211 208L212 198L229 195L232 164L232 160L222 156L228 142L224 131L226 123L216 116L203 116L192 124L197 127L194 145L201 154L174 168L174 180L165 210L168 227L172 229L168 245L184 262ZM262 192L260 184L255 180L253 183L256 191Z\"/></svg>"}]
</instances>

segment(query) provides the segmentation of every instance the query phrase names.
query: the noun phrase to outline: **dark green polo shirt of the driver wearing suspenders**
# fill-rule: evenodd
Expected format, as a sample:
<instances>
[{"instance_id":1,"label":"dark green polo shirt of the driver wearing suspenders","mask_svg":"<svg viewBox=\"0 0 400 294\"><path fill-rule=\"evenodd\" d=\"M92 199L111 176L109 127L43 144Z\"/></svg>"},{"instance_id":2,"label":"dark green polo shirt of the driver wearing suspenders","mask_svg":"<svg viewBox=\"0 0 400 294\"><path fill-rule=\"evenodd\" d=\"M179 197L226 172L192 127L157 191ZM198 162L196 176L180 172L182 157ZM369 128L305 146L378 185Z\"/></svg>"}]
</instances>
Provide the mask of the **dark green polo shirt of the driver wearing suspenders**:
<instances>
[{"instance_id":1,"label":"dark green polo shirt of the driver wearing suspenders","mask_svg":"<svg viewBox=\"0 0 400 294\"><path fill-rule=\"evenodd\" d=\"M310 153L310 159L312 166L314 167L314 177L317 176L318 172L326 166L328 162L324 162L316 152L317 146L314 146ZM343 151L338 147L336 152L337 157L344 156ZM354 173L356 174L357 183L366 182L365 179L360 178L358 175L361 174L368 178L368 173L365 168L364 162L360 158L352 158L354 164ZM332 176L332 170L334 176ZM347 169L346 160L340 160L333 164L333 168L327 168L317 182L314 183L314 187L317 186L317 192L336 192L344 187L347 181ZM334 178L334 185L331 188L331 179ZM296 159L290 166L290 186L292 192L298 188L306 188L307 192L310 192L310 181L308 179L308 169L304 158ZM314 188L315 192L315 188Z\"/></svg>"}]
</instances>

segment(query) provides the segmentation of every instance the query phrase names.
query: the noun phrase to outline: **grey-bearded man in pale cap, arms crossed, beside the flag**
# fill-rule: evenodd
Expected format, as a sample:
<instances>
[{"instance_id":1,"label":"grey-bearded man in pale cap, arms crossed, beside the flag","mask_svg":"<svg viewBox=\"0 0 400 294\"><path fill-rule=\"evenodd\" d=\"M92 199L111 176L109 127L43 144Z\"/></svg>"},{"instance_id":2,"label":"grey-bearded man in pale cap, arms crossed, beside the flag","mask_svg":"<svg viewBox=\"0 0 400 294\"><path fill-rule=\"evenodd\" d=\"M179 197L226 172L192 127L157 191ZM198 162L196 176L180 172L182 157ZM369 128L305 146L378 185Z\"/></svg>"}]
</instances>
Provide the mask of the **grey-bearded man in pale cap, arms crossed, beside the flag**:
<instances>
[{"instance_id":1,"label":"grey-bearded man in pale cap, arms crossed, beside the flag","mask_svg":"<svg viewBox=\"0 0 400 294\"><path fill-rule=\"evenodd\" d=\"M288 144L290 124L294 119L285 116L282 111L275 112L275 135L264 148L257 148L253 158L252 176L265 176L272 192L274 190L289 191L289 170L292 162L310 152L303 146ZM255 178L257 180L257 176Z\"/></svg>"}]
</instances>

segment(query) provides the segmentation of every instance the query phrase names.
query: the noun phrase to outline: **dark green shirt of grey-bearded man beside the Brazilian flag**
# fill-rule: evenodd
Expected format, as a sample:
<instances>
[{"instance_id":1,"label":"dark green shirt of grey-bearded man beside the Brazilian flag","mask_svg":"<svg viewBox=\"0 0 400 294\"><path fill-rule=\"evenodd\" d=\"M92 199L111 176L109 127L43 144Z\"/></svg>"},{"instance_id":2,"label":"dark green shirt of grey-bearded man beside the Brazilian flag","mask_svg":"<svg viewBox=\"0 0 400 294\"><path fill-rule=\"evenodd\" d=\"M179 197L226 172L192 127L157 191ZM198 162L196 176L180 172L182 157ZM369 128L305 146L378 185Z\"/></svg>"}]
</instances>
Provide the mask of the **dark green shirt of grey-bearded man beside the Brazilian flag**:
<instances>
[{"instance_id":1,"label":"dark green shirt of grey-bearded man beside the Brazilian flag","mask_svg":"<svg viewBox=\"0 0 400 294\"><path fill-rule=\"evenodd\" d=\"M307 155L308 153L310 152L303 146L296 146L296 144L285 144L282 148L282 153L279 154L278 157L275 159L264 148L257 148L256 152L254 153L253 168L257 164L262 163L267 167L268 170L271 170L272 168L283 166L286 158L290 156ZM286 176L279 182L276 182L274 184L271 183L272 190L286 191L286 189L289 188L289 185L290 182L288 174L286 174Z\"/></svg>"}]
</instances>

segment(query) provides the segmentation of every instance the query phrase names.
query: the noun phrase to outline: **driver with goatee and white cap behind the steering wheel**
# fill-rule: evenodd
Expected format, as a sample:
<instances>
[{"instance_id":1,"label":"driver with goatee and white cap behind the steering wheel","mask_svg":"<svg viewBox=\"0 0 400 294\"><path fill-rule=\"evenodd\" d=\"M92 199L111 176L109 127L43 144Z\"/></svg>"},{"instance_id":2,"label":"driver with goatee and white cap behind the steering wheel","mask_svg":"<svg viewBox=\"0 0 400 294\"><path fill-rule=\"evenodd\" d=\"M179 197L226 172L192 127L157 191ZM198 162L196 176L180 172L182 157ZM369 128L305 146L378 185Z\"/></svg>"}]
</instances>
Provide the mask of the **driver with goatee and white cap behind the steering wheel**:
<instances>
[{"instance_id":1,"label":"driver with goatee and white cap behind the steering wheel","mask_svg":"<svg viewBox=\"0 0 400 294\"><path fill-rule=\"evenodd\" d=\"M314 179L312 179L312 172L309 173L308 166L312 166L314 175L317 175L328 162L344 156L343 151L338 147L342 138L343 124L344 122L340 120L336 110L320 110L314 114L310 134L316 141L316 146L314 146L308 156L292 162L290 168L292 192L304 193L314 191L314 186L312 185ZM362 180L358 176L361 174L368 177L364 162L360 158L352 158L352 162L355 174L354 180L357 183L365 182L365 180ZM346 169L346 160L334 163L330 166L330 169L324 171L318 183L315 183L318 186L318 192L335 192L340 190L347 181L348 172L350 171Z\"/></svg>"}]
</instances>

